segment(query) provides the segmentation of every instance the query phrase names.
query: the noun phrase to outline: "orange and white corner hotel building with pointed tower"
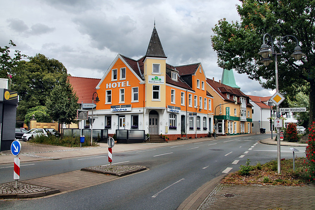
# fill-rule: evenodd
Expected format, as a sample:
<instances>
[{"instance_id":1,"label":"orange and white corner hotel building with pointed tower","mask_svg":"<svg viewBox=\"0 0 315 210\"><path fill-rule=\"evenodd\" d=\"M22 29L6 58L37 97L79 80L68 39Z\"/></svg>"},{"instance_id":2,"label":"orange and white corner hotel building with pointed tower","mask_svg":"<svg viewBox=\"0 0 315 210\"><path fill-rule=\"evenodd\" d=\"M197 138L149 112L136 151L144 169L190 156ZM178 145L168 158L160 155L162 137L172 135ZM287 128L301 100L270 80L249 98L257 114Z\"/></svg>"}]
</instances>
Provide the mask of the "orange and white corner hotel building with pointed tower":
<instances>
[{"instance_id":1,"label":"orange and white corner hotel building with pointed tower","mask_svg":"<svg viewBox=\"0 0 315 210\"><path fill-rule=\"evenodd\" d=\"M173 66L166 59L156 27L145 56L117 55L96 86L93 129L108 129L111 136L139 129L170 140L213 132L213 96L201 63Z\"/></svg>"}]
</instances>

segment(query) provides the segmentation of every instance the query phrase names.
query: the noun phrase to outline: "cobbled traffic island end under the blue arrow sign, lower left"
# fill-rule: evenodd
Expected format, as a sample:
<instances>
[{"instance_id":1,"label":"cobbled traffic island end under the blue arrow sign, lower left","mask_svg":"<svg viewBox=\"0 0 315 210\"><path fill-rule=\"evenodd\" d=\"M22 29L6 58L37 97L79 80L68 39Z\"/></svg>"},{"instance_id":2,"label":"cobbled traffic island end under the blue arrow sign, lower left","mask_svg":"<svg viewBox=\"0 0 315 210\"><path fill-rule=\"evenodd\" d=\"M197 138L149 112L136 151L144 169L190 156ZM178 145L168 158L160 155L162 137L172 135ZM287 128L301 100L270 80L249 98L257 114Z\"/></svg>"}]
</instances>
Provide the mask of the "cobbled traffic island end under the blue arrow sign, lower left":
<instances>
[{"instance_id":1,"label":"cobbled traffic island end under the blue arrow sign, lower left","mask_svg":"<svg viewBox=\"0 0 315 210\"><path fill-rule=\"evenodd\" d=\"M59 193L59 189L48 188L34 184L18 182L15 188L15 182L0 184L0 198L35 198Z\"/></svg>"}]
</instances>

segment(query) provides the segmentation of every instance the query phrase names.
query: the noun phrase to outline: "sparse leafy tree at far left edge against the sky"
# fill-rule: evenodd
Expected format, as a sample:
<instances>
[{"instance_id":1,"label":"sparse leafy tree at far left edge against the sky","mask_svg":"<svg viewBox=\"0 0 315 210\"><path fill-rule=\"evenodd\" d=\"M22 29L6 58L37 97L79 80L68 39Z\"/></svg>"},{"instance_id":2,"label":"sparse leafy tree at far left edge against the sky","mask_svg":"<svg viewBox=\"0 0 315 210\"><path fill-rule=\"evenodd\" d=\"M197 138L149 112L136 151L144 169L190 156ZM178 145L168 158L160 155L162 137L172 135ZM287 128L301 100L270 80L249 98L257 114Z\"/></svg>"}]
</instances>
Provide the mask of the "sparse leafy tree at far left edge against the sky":
<instances>
[{"instance_id":1,"label":"sparse leafy tree at far left edge against the sky","mask_svg":"<svg viewBox=\"0 0 315 210\"><path fill-rule=\"evenodd\" d=\"M16 47L12 40L9 41L9 46L0 46L0 78L7 79L12 69L16 67L17 63L26 56L21 54L20 51L15 50L14 57L10 56L10 47Z\"/></svg>"}]
</instances>

